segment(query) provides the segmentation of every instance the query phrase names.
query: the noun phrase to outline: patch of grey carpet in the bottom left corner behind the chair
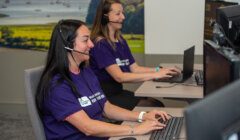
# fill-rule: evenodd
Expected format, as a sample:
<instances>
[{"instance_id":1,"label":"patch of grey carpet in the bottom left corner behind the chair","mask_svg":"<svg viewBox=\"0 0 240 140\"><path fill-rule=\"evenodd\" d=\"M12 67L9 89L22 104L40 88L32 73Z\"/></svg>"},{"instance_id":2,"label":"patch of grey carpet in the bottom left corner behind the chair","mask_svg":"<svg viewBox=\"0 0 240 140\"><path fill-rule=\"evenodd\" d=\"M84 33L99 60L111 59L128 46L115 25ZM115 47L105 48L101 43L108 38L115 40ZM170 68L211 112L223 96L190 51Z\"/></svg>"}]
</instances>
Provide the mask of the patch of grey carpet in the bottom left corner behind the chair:
<instances>
[{"instance_id":1,"label":"patch of grey carpet in the bottom left corner behind the chair","mask_svg":"<svg viewBox=\"0 0 240 140\"><path fill-rule=\"evenodd\" d=\"M34 140L34 134L27 114L0 113L1 140Z\"/></svg>"}]
</instances>

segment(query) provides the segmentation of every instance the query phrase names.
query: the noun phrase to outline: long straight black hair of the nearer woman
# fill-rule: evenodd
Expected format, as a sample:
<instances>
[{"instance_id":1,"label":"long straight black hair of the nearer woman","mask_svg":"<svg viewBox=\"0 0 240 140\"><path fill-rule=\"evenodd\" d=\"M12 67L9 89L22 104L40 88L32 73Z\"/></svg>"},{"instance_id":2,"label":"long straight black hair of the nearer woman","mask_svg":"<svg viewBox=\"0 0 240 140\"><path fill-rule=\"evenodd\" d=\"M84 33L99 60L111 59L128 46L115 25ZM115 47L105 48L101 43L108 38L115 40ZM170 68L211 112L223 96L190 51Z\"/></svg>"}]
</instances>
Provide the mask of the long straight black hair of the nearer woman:
<instances>
[{"instance_id":1,"label":"long straight black hair of the nearer woman","mask_svg":"<svg viewBox=\"0 0 240 140\"><path fill-rule=\"evenodd\" d=\"M46 66L41 75L36 93L37 108L41 115L43 115L43 101L48 97L48 94L50 93L49 90L53 86L51 80L57 74L60 77L57 80L57 83L61 83L64 80L67 81L74 95L76 97L81 96L70 77L69 60L67 55L69 50L65 49L65 47L73 49L73 43L77 37L77 29L82 25L86 24L80 20L68 19L59 21L53 29ZM84 65L84 63L81 63L79 67L81 68Z\"/></svg>"}]
</instances>

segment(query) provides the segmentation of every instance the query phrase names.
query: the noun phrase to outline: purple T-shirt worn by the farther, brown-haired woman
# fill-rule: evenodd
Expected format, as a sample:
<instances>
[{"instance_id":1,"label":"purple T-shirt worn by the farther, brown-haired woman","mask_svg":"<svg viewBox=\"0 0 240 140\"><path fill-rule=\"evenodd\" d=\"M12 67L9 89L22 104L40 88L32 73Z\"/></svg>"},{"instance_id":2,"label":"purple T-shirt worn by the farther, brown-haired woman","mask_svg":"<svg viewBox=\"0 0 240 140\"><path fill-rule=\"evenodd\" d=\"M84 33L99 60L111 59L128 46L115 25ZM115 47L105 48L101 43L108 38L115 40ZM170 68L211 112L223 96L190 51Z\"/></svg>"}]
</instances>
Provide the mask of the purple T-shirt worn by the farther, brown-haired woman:
<instances>
[{"instance_id":1,"label":"purple T-shirt worn by the farther, brown-haired woman","mask_svg":"<svg viewBox=\"0 0 240 140\"><path fill-rule=\"evenodd\" d=\"M114 50L106 39L102 39L90 50L90 66L100 81L113 80L105 70L106 67L117 64L123 72L130 72L130 65L135 62L125 40L115 45Z\"/></svg>"}]
</instances>

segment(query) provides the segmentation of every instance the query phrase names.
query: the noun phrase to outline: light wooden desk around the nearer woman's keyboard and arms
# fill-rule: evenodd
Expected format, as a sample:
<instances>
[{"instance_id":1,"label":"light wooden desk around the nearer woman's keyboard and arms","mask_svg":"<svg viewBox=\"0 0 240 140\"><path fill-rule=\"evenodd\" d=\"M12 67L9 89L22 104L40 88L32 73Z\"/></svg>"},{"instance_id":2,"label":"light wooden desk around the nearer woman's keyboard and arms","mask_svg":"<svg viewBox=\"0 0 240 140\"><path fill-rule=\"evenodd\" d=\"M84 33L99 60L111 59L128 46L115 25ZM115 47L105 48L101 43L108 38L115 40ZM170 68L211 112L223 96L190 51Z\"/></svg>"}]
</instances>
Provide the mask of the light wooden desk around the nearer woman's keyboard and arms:
<instances>
[{"instance_id":1,"label":"light wooden desk around the nearer woman's keyboard and arms","mask_svg":"<svg viewBox=\"0 0 240 140\"><path fill-rule=\"evenodd\" d=\"M162 111L166 111L168 114L171 114L172 116L176 116L176 117L183 116L183 108L160 108L160 107L135 107L134 108L135 111L150 111L152 109L159 109ZM124 121L123 124L134 125L134 124L137 124L137 122ZM127 136L124 136L124 137L127 137ZM119 140L120 138L124 138L124 137L111 137L110 140ZM134 136L134 137L137 140L149 140L150 134ZM180 132L179 138L181 138L181 140L186 139L185 124L183 124L182 126L182 130Z\"/></svg>"}]
</instances>

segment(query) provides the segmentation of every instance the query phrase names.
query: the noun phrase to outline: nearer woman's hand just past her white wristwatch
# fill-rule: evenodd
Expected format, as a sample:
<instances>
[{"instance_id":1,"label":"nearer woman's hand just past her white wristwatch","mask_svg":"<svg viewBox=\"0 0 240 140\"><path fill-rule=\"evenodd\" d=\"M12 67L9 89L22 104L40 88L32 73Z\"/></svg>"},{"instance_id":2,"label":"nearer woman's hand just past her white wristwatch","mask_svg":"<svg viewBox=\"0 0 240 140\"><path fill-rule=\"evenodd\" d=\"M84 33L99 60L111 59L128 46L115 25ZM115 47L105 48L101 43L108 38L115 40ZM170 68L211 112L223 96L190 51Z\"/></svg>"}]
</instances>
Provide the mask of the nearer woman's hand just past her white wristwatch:
<instances>
[{"instance_id":1,"label":"nearer woman's hand just past her white wristwatch","mask_svg":"<svg viewBox=\"0 0 240 140\"><path fill-rule=\"evenodd\" d=\"M152 110L143 115L143 120L158 121L160 117L163 119L163 121L170 119L170 116L166 112L159 111L159 110Z\"/></svg>"}]
</instances>

